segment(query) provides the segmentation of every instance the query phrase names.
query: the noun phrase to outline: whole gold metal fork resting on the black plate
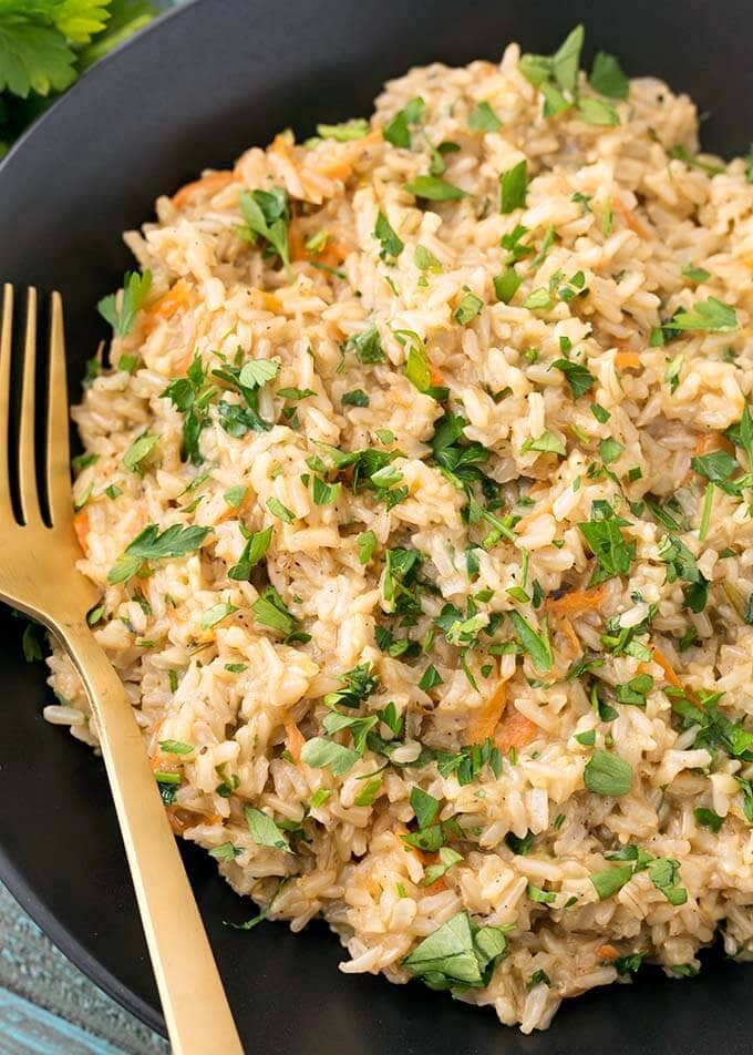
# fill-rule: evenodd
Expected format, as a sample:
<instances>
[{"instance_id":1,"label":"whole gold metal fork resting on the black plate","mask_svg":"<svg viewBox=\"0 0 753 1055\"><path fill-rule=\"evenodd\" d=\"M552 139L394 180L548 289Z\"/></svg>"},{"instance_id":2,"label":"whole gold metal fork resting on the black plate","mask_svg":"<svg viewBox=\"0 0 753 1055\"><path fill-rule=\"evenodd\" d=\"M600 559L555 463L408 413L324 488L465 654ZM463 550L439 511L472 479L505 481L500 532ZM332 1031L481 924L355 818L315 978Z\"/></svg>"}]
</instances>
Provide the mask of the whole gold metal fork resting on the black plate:
<instances>
[{"instance_id":1,"label":"whole gold metal fork resting on the black plate","mask_svg":"<svg viewBox=\"0 0 753 1055\"><path fill-rule=\"evenodd\" d=\"M13 287L4 286L0 329L0 600L43 623L73 660L89 694L131 867L173 1051L241 1053L209 942L171 831L123 684L94 639L86 613L99 601L76 571L68 445L63 307L51 298L45 420L47 506L34 454L37 291L27 295L13 511L9 454Z\"/></svg>"}]
</instances>

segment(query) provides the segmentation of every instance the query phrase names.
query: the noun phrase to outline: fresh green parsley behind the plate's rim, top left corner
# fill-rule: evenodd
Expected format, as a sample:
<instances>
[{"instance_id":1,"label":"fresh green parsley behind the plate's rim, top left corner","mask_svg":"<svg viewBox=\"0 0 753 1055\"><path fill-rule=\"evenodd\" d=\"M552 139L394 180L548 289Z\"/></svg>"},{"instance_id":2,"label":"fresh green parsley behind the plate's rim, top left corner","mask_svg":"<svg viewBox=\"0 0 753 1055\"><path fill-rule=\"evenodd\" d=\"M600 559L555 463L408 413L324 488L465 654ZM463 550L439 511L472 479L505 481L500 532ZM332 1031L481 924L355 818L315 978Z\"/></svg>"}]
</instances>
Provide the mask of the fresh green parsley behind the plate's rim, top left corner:
<instances>
[{"instance_id":1,"label":"fresh green parsley behind the plate's rim, top left corner","mask_svg":"<svg viewBox=\"0 0 753 1055\"><path fill-rule=\"evenodd\" d=\"M163 6L158 0L0 0L0 157L56 95Z\"/></svg>"}]
</instances>

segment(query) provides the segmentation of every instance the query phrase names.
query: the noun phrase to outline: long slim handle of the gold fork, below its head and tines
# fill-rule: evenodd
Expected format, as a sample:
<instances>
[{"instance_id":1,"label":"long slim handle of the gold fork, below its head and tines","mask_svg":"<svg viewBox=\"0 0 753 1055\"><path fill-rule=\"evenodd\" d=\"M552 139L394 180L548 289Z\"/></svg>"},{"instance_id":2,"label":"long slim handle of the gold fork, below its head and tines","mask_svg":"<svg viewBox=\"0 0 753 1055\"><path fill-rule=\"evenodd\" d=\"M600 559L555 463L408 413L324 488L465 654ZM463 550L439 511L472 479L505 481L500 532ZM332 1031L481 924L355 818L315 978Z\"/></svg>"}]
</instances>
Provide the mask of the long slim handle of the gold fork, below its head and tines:
<instances>
[{"instance_id":1,"label":"long slim handle of the gold fork, below its head and tines","mask_svg":"<svg viewBox=\"0 0 753 1055\"><path fill-rule=\"evenodd\" d=\"M243 1055L133 708L85 623L58 624L96 716L152 966L176 1055Z\"/></svg>"}]
</instances>

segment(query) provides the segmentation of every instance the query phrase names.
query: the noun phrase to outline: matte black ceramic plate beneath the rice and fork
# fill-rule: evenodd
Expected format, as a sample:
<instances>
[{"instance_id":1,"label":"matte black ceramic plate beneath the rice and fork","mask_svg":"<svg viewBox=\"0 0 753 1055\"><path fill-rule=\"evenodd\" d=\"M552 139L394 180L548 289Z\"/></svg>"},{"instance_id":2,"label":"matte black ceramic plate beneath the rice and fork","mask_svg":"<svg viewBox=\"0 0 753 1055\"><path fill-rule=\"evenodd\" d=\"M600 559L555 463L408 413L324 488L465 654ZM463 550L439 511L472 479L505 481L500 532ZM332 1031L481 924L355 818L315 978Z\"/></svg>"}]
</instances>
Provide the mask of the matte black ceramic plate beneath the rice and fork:
<instances>
[{"instance_id":1,"label":"matte black ceramic plate beneath the rice and fork","mask_svg":"<svg viewBox=\"0 0 753 1055\"><path fill-rule=\"evenodd\" d=\"M89 73L0 167L0 281L62 290L75 391L106 336L94 304L130 265L120 232L147 218L157 194L281 127L306 135L317 120L368 114L382 81L409 65L496 59L508 40L550 52L579 20L588 59L604 48L631 74L662 75L710 113L710 148L747 148L750 0L200 0ZM24 664L20 624L4 610L0 628L0 874L79 966L163 1028L102 765L44 724L42 668ZM751 1051L753 967L719 953L705 957L700 979L649 972L633 986L568 1002L550 1032L523 1037L492 1011L417 983L340 974L343 954L320 924L298 936L282 924L224 926L251 904L207 857L194 848L185 857L248 1051Z\"/></svg>"}]
</instances>

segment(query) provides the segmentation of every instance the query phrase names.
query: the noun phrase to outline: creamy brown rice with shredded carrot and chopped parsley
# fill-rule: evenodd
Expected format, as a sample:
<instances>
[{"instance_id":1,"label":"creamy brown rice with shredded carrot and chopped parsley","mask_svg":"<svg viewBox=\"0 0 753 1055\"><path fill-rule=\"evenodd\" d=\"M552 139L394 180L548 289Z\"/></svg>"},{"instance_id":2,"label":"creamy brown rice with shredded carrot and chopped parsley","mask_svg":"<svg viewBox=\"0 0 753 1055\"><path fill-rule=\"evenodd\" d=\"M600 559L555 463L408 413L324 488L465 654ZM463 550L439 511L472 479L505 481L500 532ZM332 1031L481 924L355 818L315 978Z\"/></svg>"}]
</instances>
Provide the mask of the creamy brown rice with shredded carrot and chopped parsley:
<instances>
[{"instance_id":1,"label":"creamy brown rice with shredded carrot and chopped parsley","mask_svg":"<svg viewBox=\"0 0 753 1055\"><path fill-rule=\"evenodd\" d=\"M158 198L73 411L176 832L525 1032L753 950L753 165L581 44Z\"/></svg>"}]
</instances>

